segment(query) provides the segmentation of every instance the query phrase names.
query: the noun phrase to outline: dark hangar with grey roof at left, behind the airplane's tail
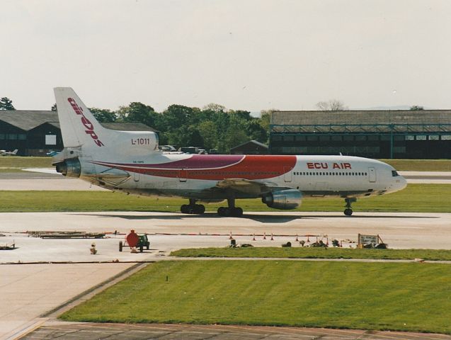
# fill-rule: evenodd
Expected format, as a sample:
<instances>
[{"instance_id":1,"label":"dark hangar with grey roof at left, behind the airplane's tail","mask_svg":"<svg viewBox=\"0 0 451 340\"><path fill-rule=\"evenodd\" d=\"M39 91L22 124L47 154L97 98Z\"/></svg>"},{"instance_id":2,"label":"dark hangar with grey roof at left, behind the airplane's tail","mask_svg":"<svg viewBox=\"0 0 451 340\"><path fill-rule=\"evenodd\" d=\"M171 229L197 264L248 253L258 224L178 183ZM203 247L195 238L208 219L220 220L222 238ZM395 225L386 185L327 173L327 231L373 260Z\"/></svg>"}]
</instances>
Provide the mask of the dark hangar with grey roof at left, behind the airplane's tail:
<instances>
[{"instance_id":1,"label":"dark hangar with grey roof at left, behind the airplane's tail","mask_svg":"<svg viewBox=\"0 0 451 340\"><path fill-rule=\"evenodd\" d=\"M141 123L102 123L123 131L155 131ZM57 111L0 111L0 149L19 156L45 156L63 148Z\"/></svg>"}]
</instances>

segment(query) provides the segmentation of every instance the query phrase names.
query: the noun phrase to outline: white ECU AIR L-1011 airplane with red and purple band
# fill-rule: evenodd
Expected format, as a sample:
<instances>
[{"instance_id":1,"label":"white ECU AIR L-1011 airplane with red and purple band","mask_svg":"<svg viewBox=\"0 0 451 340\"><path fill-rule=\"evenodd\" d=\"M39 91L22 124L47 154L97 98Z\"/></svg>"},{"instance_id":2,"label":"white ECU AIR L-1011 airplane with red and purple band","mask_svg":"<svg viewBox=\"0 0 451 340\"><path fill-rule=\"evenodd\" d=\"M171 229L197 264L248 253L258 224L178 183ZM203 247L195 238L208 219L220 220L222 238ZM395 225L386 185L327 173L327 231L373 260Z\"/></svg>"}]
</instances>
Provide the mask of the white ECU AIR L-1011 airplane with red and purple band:
<instances>
[{"instance_id":1,"label":"white ECU AIR L-1011 airplane with red and purple band","mask_svg":"<svg viewBox=\"0 0 451 340\"><path fill-rule=\"evenodd\" d=\"M350 216L357 198L406 187L392 166L362 157L161 152L155 132L103 128L72 88L55 88L55 98L64 144L52 157L57 172L112 191L186 198L185 214L201 215L203 202L227 200L217 214L241 217L236 199L292 210L303 198L338 197Z\"/></svg>"}]
</instances>

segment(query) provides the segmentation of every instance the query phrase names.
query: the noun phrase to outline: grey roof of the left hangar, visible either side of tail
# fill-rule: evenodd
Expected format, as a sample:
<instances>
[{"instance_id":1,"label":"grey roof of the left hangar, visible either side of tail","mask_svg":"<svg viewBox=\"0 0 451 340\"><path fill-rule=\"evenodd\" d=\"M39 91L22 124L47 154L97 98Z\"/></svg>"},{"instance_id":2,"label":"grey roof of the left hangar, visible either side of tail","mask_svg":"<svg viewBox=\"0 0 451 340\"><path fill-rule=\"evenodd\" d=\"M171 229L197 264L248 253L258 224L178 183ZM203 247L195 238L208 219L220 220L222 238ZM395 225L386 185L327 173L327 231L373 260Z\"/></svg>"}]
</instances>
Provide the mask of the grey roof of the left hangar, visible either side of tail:
<instances>
[{"instance_id":1,"label":"grey roof of the left hangar, visible either side of tail","mask_svg":"<svg viewBox=\"0 0 451 340\"><path fill-rule=\"evenodd\" d=\"M45 123L49 123L50 125L59 128L57 111L0 110L0 120L24 131L33 130ZM111 130L156 131L142 123L101 123L101 125Z\"/></svg>"}]
</instances>

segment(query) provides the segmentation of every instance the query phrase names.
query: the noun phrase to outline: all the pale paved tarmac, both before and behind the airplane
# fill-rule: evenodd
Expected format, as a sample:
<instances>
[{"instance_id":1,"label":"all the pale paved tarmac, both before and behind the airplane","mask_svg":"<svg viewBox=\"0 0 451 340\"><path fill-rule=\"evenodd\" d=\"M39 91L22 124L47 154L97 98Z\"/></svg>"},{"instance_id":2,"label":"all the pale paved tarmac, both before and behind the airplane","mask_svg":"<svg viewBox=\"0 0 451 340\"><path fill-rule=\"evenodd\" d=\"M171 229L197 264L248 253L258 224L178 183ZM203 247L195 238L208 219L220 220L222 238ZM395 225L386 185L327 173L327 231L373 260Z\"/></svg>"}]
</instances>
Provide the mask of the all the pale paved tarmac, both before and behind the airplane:
<instances>
[{"instance_id":1,"label":"all the pale paved tarmac, both before and behind the airplane","mask_svg":"<svg viewBox=\"0 0 451 340\"><path fill-rule=\"evenodd\" d=\"M22 175L17 175L22 176ZM410 174L416 181L448 181L451 173ZM418 179L418 176L425 177ZM427 177L427 178L426 178ZM430 178L433 177L433 178ZM40 179L40 181L36 181ZM423 182L421 182L423 183ZM429 182L428 182L429 183ZM433 182L435 183L435 182ZM441 183L441 182L440 182ZM78 179L30 174L11 181L0 176L2 190L98 190ZM14 188L14 189L13 189ZM103 189L101 189L103 190ZM152 261L168 259L174 249L238 244L280 246L298 239L356 240L357 234L379 234L391 248L451 248L451 214L363 213L346 217L334 212L245 212L243 218L164 212L0 213L0 339L450 339L440 334L240 327L219 325L130 325L59 322L65 307L88 298ZM104 239L40 239L29 230L105 232ZM130 229L147 232L151 249L141 254L118 251ZM114 234L116 232L116 234ZM305 235L317 235L307 237ZM271 240L271 236L273 240ZM253 241L255 237L255 241ZM266 239L264 239L266 238ZM98 254L89 249L96 243ZM345 243L345 246L354 246ZM75 301L75 302L74 302Z\"/></svg>"}]
</instances>

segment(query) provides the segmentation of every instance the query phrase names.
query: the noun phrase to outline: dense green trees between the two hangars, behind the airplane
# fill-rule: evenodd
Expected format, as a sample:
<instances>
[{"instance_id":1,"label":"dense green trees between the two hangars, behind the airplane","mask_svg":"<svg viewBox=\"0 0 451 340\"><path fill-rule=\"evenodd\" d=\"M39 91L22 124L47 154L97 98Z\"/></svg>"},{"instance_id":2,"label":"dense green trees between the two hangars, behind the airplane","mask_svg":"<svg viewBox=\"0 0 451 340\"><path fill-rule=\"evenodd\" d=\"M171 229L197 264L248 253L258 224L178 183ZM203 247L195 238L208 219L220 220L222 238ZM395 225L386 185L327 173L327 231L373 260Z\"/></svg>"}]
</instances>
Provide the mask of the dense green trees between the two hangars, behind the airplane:
<instances>
[{"instance_id":1,"label":"dense green trees between the two hangars, behind the airplane","mask_svg":"<svg viewBox=\"0 0 451 340\"><path fill-rule=\"evenodd\" d=\"M249 111L227 110L218 104L204 108L171 105L159 113L152 106L134 102L118 111L89 109L97 120L105 123L143 123L159 131L160 145L193 146L228 153L249 140L268 142L269 112L261 118Z\"/></svg>"}]
</instances>

